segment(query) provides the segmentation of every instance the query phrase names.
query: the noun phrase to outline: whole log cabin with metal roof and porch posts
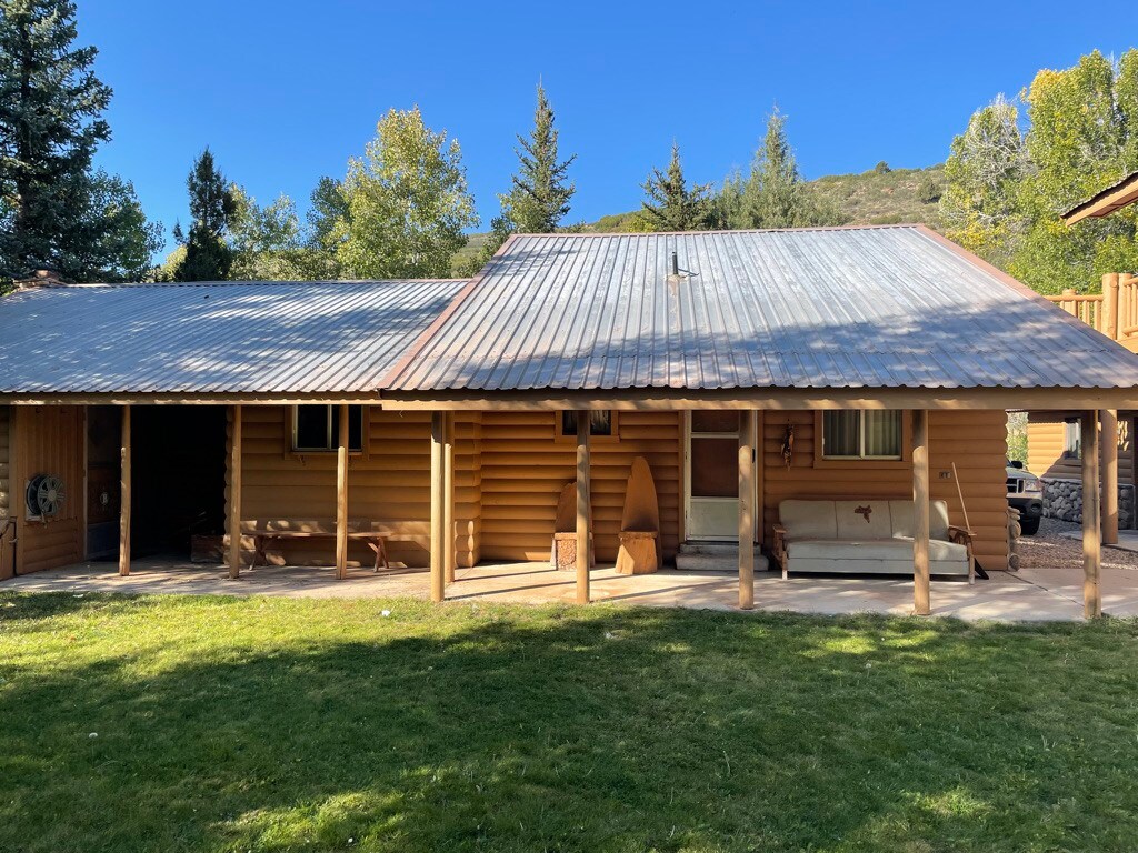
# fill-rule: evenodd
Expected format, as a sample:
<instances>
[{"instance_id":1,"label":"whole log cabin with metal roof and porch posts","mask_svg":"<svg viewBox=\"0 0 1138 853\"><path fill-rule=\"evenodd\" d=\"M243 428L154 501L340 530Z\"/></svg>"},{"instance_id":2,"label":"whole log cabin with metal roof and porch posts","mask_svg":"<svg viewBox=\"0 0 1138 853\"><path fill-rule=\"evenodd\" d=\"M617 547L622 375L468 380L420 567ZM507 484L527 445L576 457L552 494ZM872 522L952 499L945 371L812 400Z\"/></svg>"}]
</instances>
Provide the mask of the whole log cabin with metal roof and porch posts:
<instances>
[{"instance_id":1,"label":"whole log cabin with metal roof and porch posts","mask_svg":"<svg viewBox=\"0 0 1138 853\"><path fill-rule=\"evenodd\" d=\"M783 502L912 502L926 614L931 503L1008 568L1005 411L1097 446L1136 404L1129 351L915 225L518 234L469 281L33 284L0 300L0 570L126 574L198 532L234 577L397 563L442 601L456 566L549 560L576 483L587 602L642 457L663 560L733 544L743 608Z\"/></svg>"}]
</instances>

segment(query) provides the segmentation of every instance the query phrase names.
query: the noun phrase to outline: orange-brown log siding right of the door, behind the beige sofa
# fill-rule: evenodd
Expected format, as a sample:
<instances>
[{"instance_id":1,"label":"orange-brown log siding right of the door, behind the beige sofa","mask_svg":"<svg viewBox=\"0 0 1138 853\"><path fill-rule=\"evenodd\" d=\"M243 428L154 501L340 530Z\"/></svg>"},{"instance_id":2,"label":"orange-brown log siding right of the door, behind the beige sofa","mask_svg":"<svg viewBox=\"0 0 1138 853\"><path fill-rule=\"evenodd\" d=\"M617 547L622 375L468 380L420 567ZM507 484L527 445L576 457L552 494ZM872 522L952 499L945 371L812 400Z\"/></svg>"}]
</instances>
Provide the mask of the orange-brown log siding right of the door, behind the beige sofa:
<instances>
[{"instance_id":1,"label":"orange-brown log siding right of the door, behind the beige sofa","mask_svg":"<svg viewBox=\"0 0 1138 853\"><path fill-rule=\"evenodd\" d=\"M953 524L964 525L956 483L942 479L956 463L968 520L976 532L976 558L984 569L1007 568L1007 416L999 411L930 412L929 464L932 497L948 502ZM794 424L790 470L782 456L786 424ZM767 412L764 417L764 541L774 540L778 503L787 498L913 498L913 471L850 463L815 467L817 445L813 412Z\"/></svg>"}]
</instances>

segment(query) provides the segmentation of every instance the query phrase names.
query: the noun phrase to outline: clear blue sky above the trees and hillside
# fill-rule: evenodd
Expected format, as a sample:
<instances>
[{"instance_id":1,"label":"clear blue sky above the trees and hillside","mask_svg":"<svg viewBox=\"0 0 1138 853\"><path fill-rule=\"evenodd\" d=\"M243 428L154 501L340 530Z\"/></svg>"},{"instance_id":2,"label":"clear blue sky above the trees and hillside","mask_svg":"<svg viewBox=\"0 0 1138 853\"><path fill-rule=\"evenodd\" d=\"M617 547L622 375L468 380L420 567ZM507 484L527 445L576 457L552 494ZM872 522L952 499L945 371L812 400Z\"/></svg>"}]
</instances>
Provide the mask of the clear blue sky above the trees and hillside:
<instances>
[{"instance_id":1,"label":"clear blue sky above the trees and hillside","mask_svg":"<svg viewBox=\"0 0 1138 853\"><path fill-rule=\"evenodd\" d=\"M99 162L168 233L205 146L259 201L305 207L414 103L460 140L486 224L539 76L578 155L572 221L636 208L673 140L692 179L745 167L775 102L808 177L925 166L1039 68L1133 47L1138 3L79 0L79 25L115 90Z\"/></svg>"}]
</instances>

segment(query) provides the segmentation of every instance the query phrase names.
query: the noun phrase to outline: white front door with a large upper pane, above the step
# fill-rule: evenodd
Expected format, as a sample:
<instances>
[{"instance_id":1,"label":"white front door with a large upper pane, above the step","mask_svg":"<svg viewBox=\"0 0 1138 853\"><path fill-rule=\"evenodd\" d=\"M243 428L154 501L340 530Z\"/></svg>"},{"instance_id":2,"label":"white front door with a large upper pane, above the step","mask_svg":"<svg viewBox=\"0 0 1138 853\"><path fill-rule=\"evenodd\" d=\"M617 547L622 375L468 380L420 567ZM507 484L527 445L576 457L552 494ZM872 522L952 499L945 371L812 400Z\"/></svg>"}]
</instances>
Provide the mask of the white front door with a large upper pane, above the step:
<instances>
[{"instance_id":1,"label":"white front door with a large upper pane, above the step","mask_svg":"<svg viewBox=\"0 0 1138 853\"><path fill-rule=\"evenodd\" d=\"M685 458L688 539L739 539L739 413L688 412Z\"/></svg>"}]
</instances>

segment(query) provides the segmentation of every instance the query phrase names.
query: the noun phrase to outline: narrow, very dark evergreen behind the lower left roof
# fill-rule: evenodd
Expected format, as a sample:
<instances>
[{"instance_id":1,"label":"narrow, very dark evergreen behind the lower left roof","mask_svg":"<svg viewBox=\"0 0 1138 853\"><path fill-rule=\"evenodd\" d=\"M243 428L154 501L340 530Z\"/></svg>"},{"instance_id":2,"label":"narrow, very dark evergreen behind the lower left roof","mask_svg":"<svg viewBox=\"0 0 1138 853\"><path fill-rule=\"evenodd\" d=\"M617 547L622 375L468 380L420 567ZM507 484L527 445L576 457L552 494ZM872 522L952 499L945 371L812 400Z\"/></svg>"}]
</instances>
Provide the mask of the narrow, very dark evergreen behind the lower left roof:
<instances>
[{"instance_id":1,"label":"narrow, very dark evergreen behind the lower left roof","mask_svg":"<svg viewBox=\"0 0 1138 853\"><path fill-rule=\"evenodd\" d=\"M174 226L174 239L185 247L185 257L174 271L174 280L225 281L233 265L233 250L226 238L237 214L237 200L208 148L195 160L185 188L192 224L189 235L181 225Z\"/></svg>"}]
</instances>

